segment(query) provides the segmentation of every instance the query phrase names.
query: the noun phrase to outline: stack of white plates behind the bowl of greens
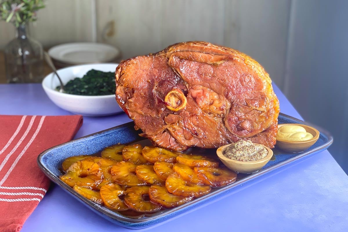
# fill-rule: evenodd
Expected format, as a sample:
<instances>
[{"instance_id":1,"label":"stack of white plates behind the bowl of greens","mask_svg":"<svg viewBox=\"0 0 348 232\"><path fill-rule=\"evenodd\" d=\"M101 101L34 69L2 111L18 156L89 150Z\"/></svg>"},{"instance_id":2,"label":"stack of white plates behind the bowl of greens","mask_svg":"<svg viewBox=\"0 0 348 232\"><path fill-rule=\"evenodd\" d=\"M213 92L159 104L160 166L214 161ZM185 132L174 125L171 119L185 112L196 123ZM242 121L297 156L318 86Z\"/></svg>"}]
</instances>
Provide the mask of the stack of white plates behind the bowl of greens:
<instances>
[{"instance_id":1,"label":"stack of white plates behind the bowl of greens","mask_svg":"<svg viewBox=\"0 0 348 232\"><path fill-rule=\"evenodd\" d=\"M56 66L109 63L120 56L120 50L103 43L64 43L48 50Z\"/></svg>"}]
</instances>

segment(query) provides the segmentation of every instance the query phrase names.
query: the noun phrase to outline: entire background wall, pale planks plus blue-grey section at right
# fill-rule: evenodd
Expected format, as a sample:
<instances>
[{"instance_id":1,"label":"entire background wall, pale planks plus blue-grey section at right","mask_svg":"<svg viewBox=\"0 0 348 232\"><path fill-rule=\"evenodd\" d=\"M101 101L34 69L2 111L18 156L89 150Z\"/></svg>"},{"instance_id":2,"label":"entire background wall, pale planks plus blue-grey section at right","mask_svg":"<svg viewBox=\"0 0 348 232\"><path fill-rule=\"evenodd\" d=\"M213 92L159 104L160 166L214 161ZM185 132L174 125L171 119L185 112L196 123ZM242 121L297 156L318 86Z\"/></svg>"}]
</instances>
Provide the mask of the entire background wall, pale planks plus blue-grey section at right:
<instances>
[{"instance_id":1,"label":"entire background wall, pale planks plus blue-grey section at right","mask_svg":"<svg viewBox=\"0 0 348 232\"><path fill-rule=\"evenodd\" d=\"M190 40L238 49L304 119L332 132L330 151L347 172L347 10L345 0L48 0L31 34L45 47L109 43L123 58ZM13 37L0 22L0 49Z\"/></svg>"}]
</instances>

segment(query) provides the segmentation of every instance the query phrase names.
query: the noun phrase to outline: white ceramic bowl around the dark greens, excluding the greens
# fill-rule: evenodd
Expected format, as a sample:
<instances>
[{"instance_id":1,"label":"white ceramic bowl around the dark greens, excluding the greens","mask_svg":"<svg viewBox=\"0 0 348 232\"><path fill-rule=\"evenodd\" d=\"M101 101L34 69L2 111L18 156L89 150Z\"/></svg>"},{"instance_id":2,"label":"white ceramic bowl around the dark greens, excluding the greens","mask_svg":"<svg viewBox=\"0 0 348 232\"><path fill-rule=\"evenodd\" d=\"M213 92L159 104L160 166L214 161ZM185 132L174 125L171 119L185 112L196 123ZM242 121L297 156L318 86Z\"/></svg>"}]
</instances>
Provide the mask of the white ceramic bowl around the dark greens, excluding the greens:
<instances>
[{"instance_id":1,"label":"white ceramic bowl around the dark greens, excluding the greens","mask_svg":"<svg viewBox=\"0 0 348 232\"><path fill-rule=\"evenodd\" d=\"M64 85L75 77L82 78L89 70L95 69L103 72L115 72L118 64L85 64L66 67L57 71ZM59 80L53 73L48 74L42 80L49 99L64 110L85 116L106 116L123 112L116 101L116 96L81 96L60 93L55 88L59 86Z\"/></svg>"}]
</instances>

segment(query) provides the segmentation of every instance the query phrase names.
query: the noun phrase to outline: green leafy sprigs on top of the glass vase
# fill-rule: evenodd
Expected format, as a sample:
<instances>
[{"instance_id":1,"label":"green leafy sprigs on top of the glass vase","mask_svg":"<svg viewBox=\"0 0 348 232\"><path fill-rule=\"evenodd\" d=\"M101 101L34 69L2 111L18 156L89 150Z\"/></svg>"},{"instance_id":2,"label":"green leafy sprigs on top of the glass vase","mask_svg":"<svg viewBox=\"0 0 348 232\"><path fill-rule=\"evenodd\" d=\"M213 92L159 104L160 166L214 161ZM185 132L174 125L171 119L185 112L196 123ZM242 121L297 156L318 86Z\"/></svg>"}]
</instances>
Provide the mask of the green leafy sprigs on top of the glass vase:
<instances>
[{"instance_id":1,"label":"green leafy sprigs on top of the glass vase","mask_svg":"<svg viewBox=\"0 0 348 232\"><path fill-rule=\"evenodd\" d=\"M45 8L45 0L0 0L0 19L16 27L37 20L37 11Z\"/></svg>"}]
</instances>

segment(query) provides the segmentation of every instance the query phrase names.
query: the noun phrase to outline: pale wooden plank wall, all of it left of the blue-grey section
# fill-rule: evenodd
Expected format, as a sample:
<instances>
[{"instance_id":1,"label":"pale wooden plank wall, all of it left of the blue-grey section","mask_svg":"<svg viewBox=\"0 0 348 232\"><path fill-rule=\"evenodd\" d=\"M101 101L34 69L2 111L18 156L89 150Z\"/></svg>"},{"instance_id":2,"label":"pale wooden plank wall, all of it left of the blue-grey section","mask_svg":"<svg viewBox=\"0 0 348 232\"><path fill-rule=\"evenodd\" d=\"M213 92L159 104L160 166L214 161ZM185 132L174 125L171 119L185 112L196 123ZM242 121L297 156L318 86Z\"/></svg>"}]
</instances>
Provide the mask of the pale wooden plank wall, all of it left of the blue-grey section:
<instances>
[{"instance_id":1,"label":"pale wooden plank wall, all of it left of the blue-grey section","mask_svg":"<svg viewBox=\"0 0 348 232\"><path fill-rule=\"evenodd\" d=\"M48 0L30 33L47 48L93 41L95 30L97 41L119 47L122 58L154 53L176 42L208 41L252 56L283 88L290 2ZM14 33L12 25L0 22L0 49Z\"/></svg>"}]
</instances>

